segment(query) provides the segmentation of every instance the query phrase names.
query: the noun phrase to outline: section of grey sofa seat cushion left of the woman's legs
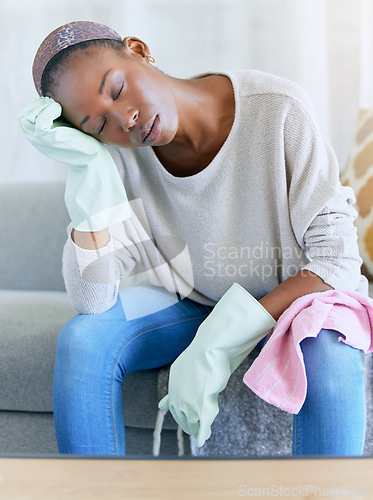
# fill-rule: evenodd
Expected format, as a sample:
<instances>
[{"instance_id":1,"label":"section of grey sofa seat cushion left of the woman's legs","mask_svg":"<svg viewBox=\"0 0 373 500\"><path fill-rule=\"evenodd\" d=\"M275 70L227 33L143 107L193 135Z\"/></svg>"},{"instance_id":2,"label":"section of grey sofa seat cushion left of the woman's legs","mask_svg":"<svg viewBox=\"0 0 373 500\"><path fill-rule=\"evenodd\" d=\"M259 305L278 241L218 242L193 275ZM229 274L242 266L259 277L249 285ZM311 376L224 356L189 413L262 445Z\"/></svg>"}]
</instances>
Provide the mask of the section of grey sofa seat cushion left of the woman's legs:
<instances>
[{"instance_id":1,"label":"section of grey sofa seat cushion left of the woman's legs","mask_svg":"<svg viewBox=\"0 0 373 500\"><path fill-rule=\"evenodd\" d=\"M52 411L57 336L75 314L66 292L0 290L0 410Z\"/></svg>"}]
</instances>

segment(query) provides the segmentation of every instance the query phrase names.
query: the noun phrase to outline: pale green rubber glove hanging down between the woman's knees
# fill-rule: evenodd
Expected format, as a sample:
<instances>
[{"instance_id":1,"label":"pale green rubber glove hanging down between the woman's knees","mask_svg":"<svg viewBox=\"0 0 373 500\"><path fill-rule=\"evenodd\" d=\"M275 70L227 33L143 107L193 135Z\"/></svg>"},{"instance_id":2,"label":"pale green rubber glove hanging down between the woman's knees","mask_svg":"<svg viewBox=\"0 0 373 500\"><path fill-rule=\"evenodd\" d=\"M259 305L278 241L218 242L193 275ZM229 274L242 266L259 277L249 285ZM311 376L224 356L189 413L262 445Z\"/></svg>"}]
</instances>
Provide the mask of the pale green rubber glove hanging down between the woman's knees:
<instances>
[{"instance_id":1,"label":"pale green rubber glove hanging down between the woman's knees","mask_svg":"<svg viewBox=\"0 0 373 500\"><path fill-rule=\"evenodd\" d=\"M229 377L275 324L252 295L233 283L171 365L168 394L158 407L170 410L183 431L196 436L197 446L211 436L218 395Z\"/></svg>"}]
</instances>

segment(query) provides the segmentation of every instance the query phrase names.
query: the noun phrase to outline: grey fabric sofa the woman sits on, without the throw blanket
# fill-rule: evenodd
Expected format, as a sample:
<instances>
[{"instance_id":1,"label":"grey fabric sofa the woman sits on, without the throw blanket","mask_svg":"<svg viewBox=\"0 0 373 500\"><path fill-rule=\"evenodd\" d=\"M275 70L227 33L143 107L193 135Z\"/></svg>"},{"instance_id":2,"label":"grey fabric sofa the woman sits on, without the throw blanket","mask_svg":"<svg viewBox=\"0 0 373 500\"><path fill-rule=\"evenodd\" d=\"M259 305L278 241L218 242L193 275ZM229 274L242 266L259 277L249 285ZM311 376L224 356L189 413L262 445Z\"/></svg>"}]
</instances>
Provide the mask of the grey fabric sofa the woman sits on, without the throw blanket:
<instances>
[{"instance_id":1,"label":"grey fabric sofa the woman sits on, without the throw blanket","mask_svg":"<svg viewBox=\"0 0 373 500\"><path fill-rule=\"evenodd\" d=\"M69 222L64 185L0 187L0 454L58 453L53 425L56 341L75 314L61 275ZM127 452L151 454L158 370L123 384ZM162 454L176 454L177 426L167 415ZM185 439L185 452L190 449Z\"/></svg>"}]
</instances>

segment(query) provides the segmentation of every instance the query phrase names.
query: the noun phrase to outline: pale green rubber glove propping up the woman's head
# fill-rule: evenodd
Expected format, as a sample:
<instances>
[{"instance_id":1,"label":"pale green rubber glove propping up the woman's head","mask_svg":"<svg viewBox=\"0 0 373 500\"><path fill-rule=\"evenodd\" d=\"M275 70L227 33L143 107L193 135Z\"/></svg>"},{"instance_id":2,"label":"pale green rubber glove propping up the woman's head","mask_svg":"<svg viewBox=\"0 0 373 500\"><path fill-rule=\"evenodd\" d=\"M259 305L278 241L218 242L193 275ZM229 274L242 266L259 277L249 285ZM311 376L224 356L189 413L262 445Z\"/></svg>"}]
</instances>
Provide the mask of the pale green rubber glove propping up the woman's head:
<instances>
[{"instance_id":1,"label":"pale green rubber glove propping up the woman's head","mask_svg":"<svg viewBox=\"0 0 373 500\"><path fill-rule=\"evenodd\" d=\"M106 146L94 137L56 121L61 105L39 97L19 115L26 138L48 158L69 166L65 203L78 231L100 231L128 219L127 195Z\"/></svg>"}]
</instances>

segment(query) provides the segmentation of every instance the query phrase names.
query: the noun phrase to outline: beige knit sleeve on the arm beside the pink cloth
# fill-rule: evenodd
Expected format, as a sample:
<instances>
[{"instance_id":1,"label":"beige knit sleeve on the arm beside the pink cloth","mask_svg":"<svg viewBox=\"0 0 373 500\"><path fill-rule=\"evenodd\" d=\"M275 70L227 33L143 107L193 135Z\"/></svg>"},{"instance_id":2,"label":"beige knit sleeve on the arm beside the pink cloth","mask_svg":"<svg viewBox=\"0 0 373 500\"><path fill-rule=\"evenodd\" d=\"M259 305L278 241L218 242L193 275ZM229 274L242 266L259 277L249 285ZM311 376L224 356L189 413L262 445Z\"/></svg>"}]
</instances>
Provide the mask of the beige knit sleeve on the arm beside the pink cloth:
<instances>
[{"instance_id":1,"label":"beige knit sleeve on the arm beside the pink cloth","mask_svg":"<svg viewBox=\"0 0 373 500\"><path fill-rule=\"evenodd\" d=\"M355 195L339 180L337 159L308 100L289 105L284 123L291 224L310 262L304 267L334 289L356 290L362 260L357 245Z\"/></svg>"}]
</instances>

